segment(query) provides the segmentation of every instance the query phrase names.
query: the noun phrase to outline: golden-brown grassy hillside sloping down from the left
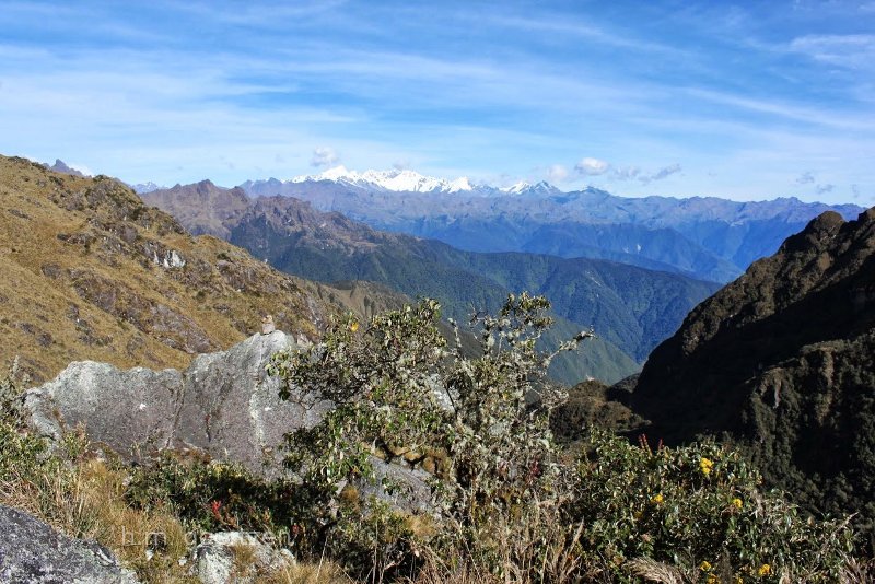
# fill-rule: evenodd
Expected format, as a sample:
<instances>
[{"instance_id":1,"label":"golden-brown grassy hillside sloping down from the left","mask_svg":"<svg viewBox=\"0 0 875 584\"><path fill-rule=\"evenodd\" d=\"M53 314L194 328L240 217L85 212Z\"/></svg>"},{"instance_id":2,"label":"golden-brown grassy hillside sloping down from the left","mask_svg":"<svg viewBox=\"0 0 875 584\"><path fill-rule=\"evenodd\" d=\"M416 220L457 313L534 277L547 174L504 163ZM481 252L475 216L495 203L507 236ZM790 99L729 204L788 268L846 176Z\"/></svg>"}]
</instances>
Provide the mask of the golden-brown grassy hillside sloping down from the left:
<instances>
[{"instance_id":1,"label":"golden-brown grassy hillside sloping down from the left","mask_svg":"<svg viewBox=\"0 0 875 584\"><path fill-rule=\"evenodd\" d=\"M180 367L260 328L315 338L346 292L192 237L106 178L0 156L0 363L34 381L70 361ZM361 300L359 300L361 303Z\"/></svg>"}]
</instances>

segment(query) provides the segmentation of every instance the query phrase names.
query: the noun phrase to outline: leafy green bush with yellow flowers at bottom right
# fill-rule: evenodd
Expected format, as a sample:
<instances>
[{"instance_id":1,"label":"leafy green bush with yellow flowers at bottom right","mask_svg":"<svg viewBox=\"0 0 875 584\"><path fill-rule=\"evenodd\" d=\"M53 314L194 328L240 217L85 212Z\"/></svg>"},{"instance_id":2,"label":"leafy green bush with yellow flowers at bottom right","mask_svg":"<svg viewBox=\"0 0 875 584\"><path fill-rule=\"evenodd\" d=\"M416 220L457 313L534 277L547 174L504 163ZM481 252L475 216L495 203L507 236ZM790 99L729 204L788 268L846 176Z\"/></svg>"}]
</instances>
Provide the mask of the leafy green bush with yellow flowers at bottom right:
<instances>
[{"instance_id":1,"label":"leafy green bush with yellow flowers at bottom right","mask_svg":"<svg viewBox=\"0 0 875 584\"><path fill-rule=\"evenodd\" d=\"M612 580L649 559L687 581L837 582L853 551L847 523L761 493L759 472L719 444L652 451L595 432L590 448L570 513L585 525L585 563Z\"/></svg>"}]
</instances>

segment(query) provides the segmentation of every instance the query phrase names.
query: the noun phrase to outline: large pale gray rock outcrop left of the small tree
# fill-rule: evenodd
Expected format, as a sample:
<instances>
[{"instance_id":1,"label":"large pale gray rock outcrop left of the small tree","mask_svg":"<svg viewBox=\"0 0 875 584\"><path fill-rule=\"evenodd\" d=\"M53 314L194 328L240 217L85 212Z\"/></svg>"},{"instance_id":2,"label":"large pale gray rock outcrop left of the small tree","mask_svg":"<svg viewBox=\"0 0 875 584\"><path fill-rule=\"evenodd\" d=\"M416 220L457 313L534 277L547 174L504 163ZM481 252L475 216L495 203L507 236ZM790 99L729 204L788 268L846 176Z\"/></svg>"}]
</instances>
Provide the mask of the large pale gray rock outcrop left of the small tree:
<instances>
[{"instance_id":1,"label":"large pale gray rock outcrop left of the small tree","mask_svg":"<svg viewBox=\"0 0 875 584\"><path fill-rule=\"evenodd\" d=\"M279 330L254 335L228 351L195 358L183 372L75 362L28 390L25 408L35 430L55 440L81 423L91 440L129 457L198 448L262 471L283 433L316 423L328 407L306 396L279 399L279 379L265 365L294 346Z\"/></svg>"}]
</instances>

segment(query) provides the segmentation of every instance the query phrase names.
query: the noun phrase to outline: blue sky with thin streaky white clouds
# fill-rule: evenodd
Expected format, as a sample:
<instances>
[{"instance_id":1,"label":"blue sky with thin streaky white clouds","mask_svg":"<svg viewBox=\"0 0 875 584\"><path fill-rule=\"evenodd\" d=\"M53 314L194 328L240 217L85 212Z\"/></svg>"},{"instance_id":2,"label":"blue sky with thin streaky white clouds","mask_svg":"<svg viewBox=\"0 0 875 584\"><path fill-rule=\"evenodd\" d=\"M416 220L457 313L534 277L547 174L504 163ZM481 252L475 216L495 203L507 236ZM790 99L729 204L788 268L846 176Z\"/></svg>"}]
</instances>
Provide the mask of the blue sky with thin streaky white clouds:
<instances>
[{"instance_id":1,"label":"blue sky with thin streaky white clouds","mask_svg":"<svg viewBox=\"0 0 875 584\"><path fill-rule=\"evenodd\" d=\"M875 0L0 0L0 153L875 205Z\"/></svg>"}]
</instances>

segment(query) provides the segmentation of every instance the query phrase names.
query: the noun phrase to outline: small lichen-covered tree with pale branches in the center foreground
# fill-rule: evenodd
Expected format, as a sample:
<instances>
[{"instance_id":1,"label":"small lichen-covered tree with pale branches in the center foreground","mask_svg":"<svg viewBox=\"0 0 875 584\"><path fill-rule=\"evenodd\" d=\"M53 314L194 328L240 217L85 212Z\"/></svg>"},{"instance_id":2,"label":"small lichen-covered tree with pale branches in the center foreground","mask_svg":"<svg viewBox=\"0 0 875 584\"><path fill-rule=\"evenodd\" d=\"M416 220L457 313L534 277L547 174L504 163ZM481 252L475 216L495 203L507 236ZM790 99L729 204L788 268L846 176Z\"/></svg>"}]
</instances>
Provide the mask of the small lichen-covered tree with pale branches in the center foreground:
<instances>
[{"instance_id":1,"label":"small lichen-covered tree with pale branches in the center foreground","mask_svg":"<svg viewBox=\"0 0 875 584\"><path fill-rule=\"evenodd\" d=\"M432 300L375 316L362 329L348 315L319 344L275 355L269 371L284 381L281 397L334 405L317 425L287 435L288 467L317 492L314 515L334 522L340 510L342 517L350 492L343 487L376 482L381 458L431 471L429 521L452 525L436 529L441 545L499 553L522 515L558 507L557 486L568 472L558 464L549 412L564 394L546 371L559 351L593 334L542 353L537 343L551 324L549 308L542 296L523 293L510 295L498 316L475 317L475 358L463 354L455 324L447 344ZM369 514L361 503L357 522Z\"/></svg>"}]
</instances>

